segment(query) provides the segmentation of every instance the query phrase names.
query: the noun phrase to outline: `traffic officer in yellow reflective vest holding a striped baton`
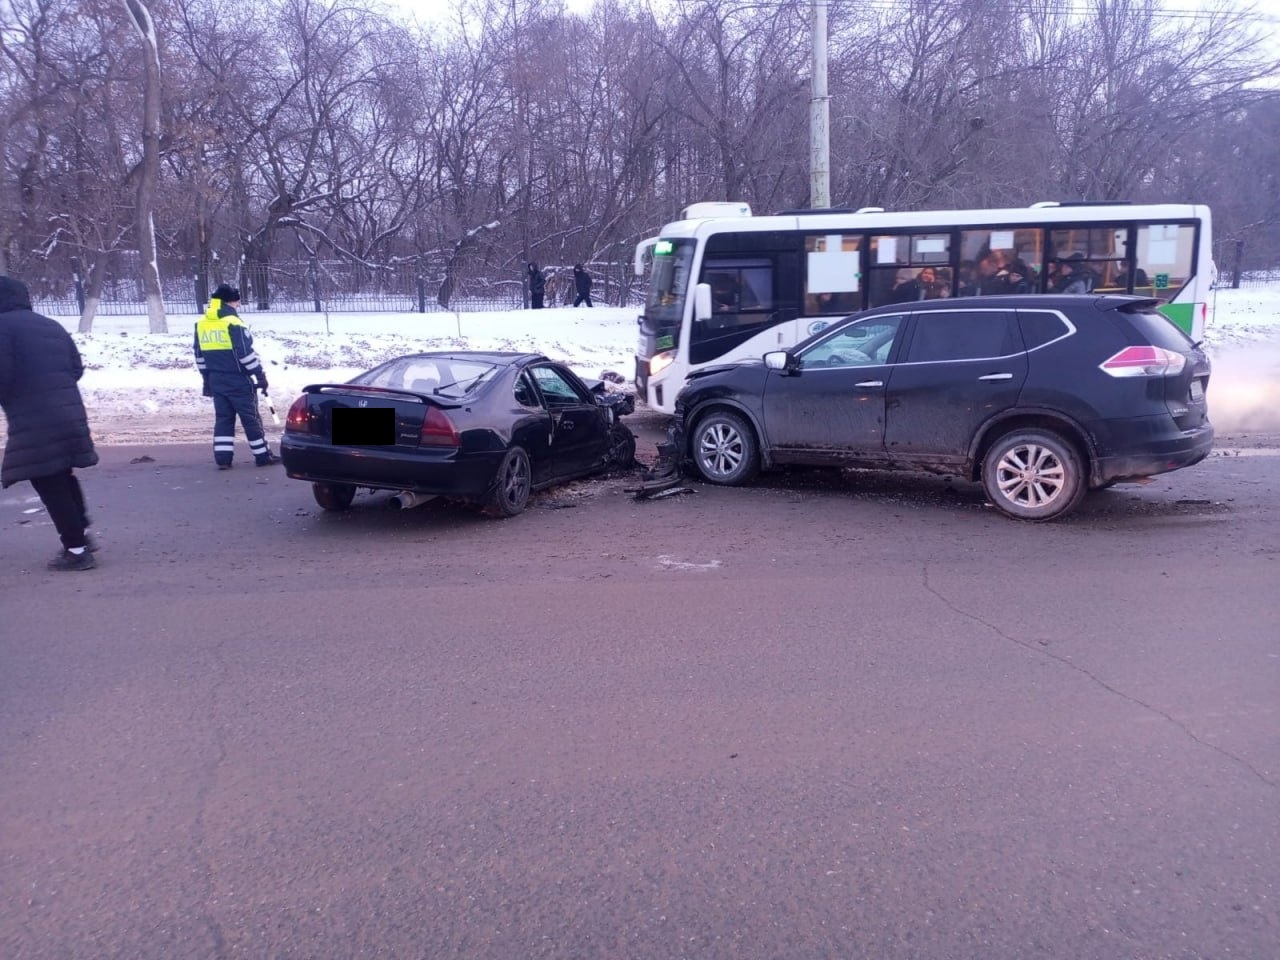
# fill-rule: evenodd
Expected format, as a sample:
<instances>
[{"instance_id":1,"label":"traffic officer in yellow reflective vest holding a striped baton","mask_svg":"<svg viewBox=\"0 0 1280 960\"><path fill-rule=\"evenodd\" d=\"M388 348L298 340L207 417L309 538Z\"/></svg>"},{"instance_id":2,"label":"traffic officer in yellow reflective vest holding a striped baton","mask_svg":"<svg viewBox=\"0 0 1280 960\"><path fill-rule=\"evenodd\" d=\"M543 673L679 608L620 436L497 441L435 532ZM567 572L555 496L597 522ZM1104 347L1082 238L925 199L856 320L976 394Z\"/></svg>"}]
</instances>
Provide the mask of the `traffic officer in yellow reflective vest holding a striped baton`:
<instances>
[{"instance_id":1,"label":"traffic officer in yellow reflective vest holding a striped baton","mask_svg":"<svg viewBox=\"0 0 1280 960\"><path fill-rule=\"evenodd\" d=\"M230 470L236 453L236 417L260 467L279 463L266 445L257 394L266 394L266 371L253 352L253 337L241 323L239 291L223 283L214 291L209 310L196 323L196 369L205 381L205 396L214 398L214 463Z\"/></svg>"}]
</instances>

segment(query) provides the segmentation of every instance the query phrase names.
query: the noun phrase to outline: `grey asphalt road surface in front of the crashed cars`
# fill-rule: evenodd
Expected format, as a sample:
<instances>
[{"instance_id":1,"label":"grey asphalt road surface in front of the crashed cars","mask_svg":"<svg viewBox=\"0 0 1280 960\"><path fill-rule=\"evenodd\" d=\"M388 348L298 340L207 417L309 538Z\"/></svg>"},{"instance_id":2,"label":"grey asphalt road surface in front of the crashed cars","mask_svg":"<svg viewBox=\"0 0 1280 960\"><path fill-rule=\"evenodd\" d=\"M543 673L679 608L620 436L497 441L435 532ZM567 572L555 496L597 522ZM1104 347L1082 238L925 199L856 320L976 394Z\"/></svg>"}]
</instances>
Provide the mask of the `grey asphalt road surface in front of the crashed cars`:
<instances>
[{"instance_id":1,"label":"grey asphalt road surface in front of the crashed cars","mask_svg":"<svg viewBox=\"0 0 1280 960\"><path fill-rule=\"evenodd\" d=\"M0 956L1275 957L1275 453L1033 526L106 449L95 571L0 495Z\"/></svg>"}]
</instances>

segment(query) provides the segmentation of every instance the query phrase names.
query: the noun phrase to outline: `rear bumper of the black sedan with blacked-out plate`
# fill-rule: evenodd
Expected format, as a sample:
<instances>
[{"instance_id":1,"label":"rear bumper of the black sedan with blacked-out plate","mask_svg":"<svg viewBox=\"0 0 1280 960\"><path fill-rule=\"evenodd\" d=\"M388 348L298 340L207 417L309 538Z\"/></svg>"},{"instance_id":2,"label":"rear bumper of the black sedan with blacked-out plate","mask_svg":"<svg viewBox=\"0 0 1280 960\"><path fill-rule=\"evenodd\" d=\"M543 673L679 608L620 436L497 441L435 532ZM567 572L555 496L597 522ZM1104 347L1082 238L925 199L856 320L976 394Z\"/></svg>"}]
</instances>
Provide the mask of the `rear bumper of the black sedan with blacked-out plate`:
<instances>
[{"instance_id":1,"label":"rear bumper of the black sedan with blacked-out plate","mask_svg":"<svg viewBox=\"0 0 1280 960\"><path fill-rule=\"evenodd\" d=\"M489 493L502 452L334 447L285 434L280 439L280 458L294 480L476 499Z\"/></svg>"}]
</instances>

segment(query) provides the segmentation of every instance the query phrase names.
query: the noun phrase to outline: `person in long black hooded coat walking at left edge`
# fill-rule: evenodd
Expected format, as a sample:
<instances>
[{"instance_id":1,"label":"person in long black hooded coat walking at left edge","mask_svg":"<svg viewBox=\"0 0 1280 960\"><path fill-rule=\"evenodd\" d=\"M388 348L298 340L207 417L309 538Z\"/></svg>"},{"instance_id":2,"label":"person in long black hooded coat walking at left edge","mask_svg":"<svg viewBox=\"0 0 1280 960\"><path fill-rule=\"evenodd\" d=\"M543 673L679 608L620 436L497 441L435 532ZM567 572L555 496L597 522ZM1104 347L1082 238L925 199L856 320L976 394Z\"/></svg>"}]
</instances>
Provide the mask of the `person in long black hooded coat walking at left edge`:
<instances>
[{"instance_id":1,"label":"person in long black hooded coat walking at left edge","mask_svg":"<svg viewBox=\"0 0 1280 960\"><path fill-rule=\"evenodd\" d=\"M0 276L0 408L9 442L0 486L29 480L63 541L50 570L90 570L84 493L72 472L97 463L78 381L76 340L56 320L31 308L27 284Z\"/></svg>"}]
</instances>

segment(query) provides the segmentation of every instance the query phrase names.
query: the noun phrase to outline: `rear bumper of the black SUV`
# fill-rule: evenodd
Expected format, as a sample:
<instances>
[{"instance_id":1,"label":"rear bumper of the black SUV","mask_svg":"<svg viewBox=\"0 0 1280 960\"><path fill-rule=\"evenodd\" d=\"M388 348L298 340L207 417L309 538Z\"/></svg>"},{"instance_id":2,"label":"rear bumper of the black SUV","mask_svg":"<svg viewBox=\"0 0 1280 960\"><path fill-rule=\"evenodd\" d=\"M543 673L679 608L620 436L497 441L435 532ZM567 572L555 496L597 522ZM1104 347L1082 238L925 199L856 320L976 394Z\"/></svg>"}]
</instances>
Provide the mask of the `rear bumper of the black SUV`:
<instances>
[{"instance_id":1,"label":"rear bumper of the black SUV","mask_svg":"<svg viewBox=\"0 0 1280 960\"><path fill-rule=\"evenodd\" d=\"M1167 474L1204 460L1213 449L1213 425L1179 430L1172 417L1100 420L1089 424L1097 444L1094 484Z\"/></svg>"}]
</instances>

